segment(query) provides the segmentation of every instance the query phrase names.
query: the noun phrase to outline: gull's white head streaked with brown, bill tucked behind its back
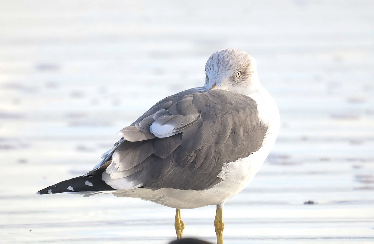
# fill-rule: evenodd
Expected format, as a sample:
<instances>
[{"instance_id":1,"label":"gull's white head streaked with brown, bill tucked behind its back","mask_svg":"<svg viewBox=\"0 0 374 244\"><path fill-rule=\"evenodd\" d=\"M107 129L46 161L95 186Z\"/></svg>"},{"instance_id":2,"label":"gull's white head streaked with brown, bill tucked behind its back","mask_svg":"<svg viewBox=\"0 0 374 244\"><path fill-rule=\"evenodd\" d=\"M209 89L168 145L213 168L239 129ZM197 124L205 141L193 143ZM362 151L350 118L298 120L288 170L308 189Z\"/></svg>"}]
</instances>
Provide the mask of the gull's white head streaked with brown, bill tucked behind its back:
<instances>
[{"instance_id":1,"label":"gull's white head streaked with brown, bill tucked behind its back","mask_svg":"<svg viewBox=\"0 0 374 244\"><path fill-rule=\"evenodd\" d=\"M205 74L206 89L247 94L260 85L255 59L240 49L223 49L212 54L206 62Z\"/></svg>"}]
</instances>

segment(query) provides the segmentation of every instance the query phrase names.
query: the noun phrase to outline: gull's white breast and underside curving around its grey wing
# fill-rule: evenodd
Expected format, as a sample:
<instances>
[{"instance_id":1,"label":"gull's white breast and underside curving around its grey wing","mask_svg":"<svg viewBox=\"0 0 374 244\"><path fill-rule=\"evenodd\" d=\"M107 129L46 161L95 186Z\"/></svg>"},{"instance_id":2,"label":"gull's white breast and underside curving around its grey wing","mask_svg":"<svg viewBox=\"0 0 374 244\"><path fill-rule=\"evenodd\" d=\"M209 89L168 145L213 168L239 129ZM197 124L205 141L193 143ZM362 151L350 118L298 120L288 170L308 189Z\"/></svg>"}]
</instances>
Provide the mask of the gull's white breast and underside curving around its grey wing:
<instances>
[{"instance_id":1,"label":"gull's white breast and underside curving around its grey wing","mask_svg":"<svg viewBox=\"0 0 374 244\"><path fill-rule=\"evenodd\" d=\"M117 190L113 192L116 196L129 196L153 201L172 208L199 208L207 205L220 205L242 191L260 170L266 157L278 136L279 113L275 102L269 93L259 91L249 95L258 103L258 113L261 121L269 125L266 138L259 150L243 159L235 162L227 162L223 165L218 177L223 180L211 189L207 190L180 190L161 188L150 190L136 188L131 190Z\"/></svg>"}]
</instances>

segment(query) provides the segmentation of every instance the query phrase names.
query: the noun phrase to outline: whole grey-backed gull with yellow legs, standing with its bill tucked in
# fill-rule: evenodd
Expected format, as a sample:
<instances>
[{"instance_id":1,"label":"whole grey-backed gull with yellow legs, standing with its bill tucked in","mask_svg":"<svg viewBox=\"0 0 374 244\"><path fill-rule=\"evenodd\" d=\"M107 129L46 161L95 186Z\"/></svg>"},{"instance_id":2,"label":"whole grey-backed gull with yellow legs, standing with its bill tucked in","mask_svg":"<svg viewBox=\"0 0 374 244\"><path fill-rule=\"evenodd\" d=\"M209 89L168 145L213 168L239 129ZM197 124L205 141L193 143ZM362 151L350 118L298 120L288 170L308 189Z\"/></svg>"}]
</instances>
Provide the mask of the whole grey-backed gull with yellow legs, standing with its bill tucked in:
<instances>
[{"instance_id":1,"label":"whole grey-backed gull with yellow legs, standing with its bill tucked in","mask_svg":"<svg viewBox=\"0 0 374 244\"><path fill-rule=\"evenodd\" d=\"M178 239L185 227L181 209L216 205L215 232L223 244L224 203L260 169L280 119L246 52L214 52L205 74L204 86L162 99L123 128L122 138L92 171L37 194L112 193L176 208Z\"/></svg>"}]
</instances>

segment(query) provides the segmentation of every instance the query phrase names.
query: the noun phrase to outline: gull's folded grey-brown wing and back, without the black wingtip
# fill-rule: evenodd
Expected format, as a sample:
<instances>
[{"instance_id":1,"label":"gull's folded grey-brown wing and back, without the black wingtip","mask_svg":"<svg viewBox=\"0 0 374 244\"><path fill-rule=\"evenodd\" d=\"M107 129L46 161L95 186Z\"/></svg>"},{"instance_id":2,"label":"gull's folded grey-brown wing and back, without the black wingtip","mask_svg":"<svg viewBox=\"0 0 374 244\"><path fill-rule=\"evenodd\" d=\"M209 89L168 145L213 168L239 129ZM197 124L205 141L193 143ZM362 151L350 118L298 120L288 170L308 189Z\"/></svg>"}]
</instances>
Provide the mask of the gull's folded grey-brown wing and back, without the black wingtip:
<instances>
[{"instance_id":1,"label":"gull's folded grey-brown wing and back, without the black wingtip","mask_svg":"<svg viewBox=\"0 0 374 244\"><path fill-rule=\"evenodd\" d=\"M209 189L225 162L260 149L267 126L251 98L194 88L167 97L119 134L102 174L114 189ZM100 164L98 165L100 167Z\"/></svg>"}]
</instances>

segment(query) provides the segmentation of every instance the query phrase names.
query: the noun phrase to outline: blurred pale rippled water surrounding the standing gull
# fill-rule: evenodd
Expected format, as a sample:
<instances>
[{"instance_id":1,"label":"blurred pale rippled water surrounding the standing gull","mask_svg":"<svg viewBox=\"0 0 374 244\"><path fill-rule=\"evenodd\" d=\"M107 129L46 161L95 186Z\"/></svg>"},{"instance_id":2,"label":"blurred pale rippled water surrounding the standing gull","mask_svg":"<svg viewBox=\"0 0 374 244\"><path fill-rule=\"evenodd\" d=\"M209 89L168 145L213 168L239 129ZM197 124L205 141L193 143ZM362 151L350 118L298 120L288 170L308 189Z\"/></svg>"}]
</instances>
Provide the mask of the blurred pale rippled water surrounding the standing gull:
<instances>
[{"instance_id":1,"label":"blurred pale rippled water surrounding the standing gull","mask_svg":"<svg viewBox=\"0 0 374 244\"><path fill-rule=\"evenodd\" d=\"M166 243L174 209L35 195L86 173L218 49L257 59L282 128L226 203L225 243L374 240L374 2L0 1L0 243ZM307 205L304 202L313 201ZM213 206L184 236L215 240Z\"/></svg>"}]
</instances>

